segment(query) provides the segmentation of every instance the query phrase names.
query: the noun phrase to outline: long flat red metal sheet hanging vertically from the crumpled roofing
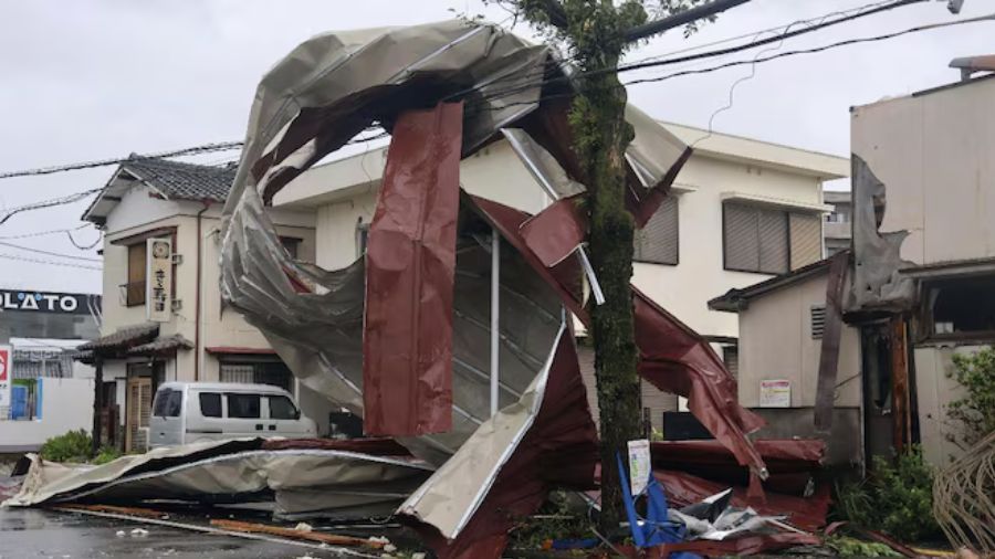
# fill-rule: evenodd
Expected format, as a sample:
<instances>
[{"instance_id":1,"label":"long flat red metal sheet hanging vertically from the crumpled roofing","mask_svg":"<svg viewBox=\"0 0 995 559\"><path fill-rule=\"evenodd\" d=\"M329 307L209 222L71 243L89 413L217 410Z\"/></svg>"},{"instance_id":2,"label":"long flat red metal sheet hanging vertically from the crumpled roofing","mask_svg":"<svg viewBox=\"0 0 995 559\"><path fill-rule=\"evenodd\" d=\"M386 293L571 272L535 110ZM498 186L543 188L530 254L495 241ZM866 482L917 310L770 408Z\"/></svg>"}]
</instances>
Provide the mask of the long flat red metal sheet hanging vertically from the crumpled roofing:
<instances>
[{"instance_id":1,"label":"long flat red metal sheet hanging vertically from the crumpled roofing","mask_svg":"<svg viewBox=\"0 0 995 559\"><path fill-rule=\"evenodd\" d=\"M369 228L363 335L364 429L452 429L452 289L462 104L404 113Z\"/></svg>"}]
</instances>

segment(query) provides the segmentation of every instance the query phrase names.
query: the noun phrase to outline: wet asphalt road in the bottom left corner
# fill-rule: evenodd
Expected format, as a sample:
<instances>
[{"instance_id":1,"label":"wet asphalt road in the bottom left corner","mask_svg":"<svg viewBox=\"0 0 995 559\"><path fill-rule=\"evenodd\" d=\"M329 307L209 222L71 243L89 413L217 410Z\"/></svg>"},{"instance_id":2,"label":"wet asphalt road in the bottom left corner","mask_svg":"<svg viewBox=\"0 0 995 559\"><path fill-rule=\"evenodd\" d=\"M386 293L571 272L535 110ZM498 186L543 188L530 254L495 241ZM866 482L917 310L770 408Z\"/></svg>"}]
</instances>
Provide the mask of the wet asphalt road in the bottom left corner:
<instances>
[{"instance_id":1,"label":"wet asphalt road in the bottom left corner","mask_svg":"<svg viewBox=\"0 0 995 559\"><path fill-rule=\"evenodd\" d=\"M135 537L134 528L148 535ZM117 536L118 530L127 535ZM344 557L314 548L142 526L111 518L41 509L0 508L0 559L168 558L234 559Z\"/></svg>"}]
</instances>

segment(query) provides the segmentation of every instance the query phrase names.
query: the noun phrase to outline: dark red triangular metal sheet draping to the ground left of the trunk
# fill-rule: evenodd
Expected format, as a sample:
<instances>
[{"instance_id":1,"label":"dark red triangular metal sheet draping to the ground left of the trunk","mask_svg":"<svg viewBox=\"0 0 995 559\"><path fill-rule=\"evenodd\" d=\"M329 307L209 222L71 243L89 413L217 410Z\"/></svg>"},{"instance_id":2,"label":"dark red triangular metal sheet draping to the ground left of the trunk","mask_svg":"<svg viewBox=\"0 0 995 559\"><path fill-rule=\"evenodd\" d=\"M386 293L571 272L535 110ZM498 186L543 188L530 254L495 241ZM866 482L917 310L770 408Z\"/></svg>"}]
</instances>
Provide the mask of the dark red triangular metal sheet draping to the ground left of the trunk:
<instances>
[{"instance_id":1,"label":"dark red triangular metal sheet draping to the ground left of the trunk","mask_svg":"<svg viewBox=\"0 0 995 559\"><path fill-rule=\"evenodd\" d=\"M498 559L509 530L533 514L552 488L595 486L597 441L574 340L562 336L535 421L470 523L452 541L432 526L412 521L412 527L439 559Z\"/></svg>"}]
</instances>

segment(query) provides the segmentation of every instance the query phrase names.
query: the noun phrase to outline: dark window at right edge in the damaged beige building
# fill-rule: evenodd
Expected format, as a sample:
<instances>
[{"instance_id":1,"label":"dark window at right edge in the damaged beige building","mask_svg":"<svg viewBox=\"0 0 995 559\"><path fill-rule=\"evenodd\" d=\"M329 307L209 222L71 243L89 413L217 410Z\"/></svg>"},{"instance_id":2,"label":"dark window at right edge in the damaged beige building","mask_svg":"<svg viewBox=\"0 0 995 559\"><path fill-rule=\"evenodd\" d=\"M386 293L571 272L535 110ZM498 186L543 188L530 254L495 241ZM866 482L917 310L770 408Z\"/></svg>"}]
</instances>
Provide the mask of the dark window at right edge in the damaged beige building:
<instances>
[{"instance_id":1,"label":"dark window at right edge in the damaged beige building","mask_svg":"<svg viewBox=\"0 0 995 559\"><path fill-rule=\"evenodd\" d=\"M995 276L943 280L926 288L928 334L995 339Z\"/></svg>"}]
</instances>

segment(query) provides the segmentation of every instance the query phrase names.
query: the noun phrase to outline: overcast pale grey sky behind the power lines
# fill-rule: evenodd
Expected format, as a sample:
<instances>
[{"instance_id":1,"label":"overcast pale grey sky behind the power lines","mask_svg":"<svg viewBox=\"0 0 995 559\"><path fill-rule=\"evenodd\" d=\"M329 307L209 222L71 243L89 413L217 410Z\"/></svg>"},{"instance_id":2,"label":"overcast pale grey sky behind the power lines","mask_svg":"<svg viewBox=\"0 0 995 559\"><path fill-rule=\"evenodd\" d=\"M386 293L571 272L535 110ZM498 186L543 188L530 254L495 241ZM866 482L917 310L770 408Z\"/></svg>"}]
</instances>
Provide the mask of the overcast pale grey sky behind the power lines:
<instances>
[{"instance_id":1,"label":"overcast pale grey sky behind the power lines","mask_svg":"<svg viewBox=\"0 0 995 559\"><path fill-rule=\"evenodd\" d=\"M723 14L690 40L657 38L630 60L846 10L870 0L753 0ZM0 171L67 164L241 139L261 75L308 36L327 30L402 25L451 17L454 8L504 20L479 0L0 0ZM874 35L922 23L986 14L992 0L966 0L960 17L946 2L900 8L787 41L798 49ZM995 23L975 23L887 42L758 64L735 89L719 131L846 156L848 108L956 81L951 59L993 52ZM516 32L527 34L519 27ZM766 35L764 35L766 36ZM720 61L752 57L742 53ZM699 63L692 67L702 67ZM647 71L628 77L670 73ZM630 99L658 118L705 127L729 102L737 67L630 87ZM218 154L207 161L233 158ZM0 180L0 209L103 186L112 168ZM0 242L83 257L64 234L10 239L75 228L87 201L33 211L0 225ZM75 233L88 244L93 229ZM32 254L0 245L0 286L94 291L101 274L6 256L86 266L98 263Z\"/></svg>"}]
</instances>

